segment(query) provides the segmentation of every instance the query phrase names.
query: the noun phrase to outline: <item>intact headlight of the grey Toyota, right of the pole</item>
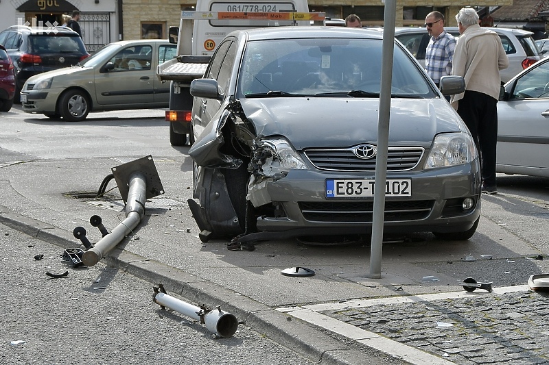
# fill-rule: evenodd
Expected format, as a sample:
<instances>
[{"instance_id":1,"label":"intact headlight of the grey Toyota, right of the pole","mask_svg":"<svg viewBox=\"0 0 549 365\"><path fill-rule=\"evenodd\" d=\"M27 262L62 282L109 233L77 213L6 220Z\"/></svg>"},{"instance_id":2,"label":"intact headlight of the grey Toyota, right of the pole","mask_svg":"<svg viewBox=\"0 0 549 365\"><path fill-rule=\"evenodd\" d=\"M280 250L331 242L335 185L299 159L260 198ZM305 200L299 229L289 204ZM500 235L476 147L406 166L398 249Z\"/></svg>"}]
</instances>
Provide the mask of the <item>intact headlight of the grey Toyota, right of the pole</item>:
<instances>
[{"instance_id":1,"label":"intact headlight of the grey Toyota, right of the pole","mask_svg":"<svg viewBox=\"0 0 549 365\"><path fill-rule=\"evenodd\" d=\"M473 138L467 133L445 133L434 138L425 168L468 164L477 158Z\"/></svg>"}]
</instances>

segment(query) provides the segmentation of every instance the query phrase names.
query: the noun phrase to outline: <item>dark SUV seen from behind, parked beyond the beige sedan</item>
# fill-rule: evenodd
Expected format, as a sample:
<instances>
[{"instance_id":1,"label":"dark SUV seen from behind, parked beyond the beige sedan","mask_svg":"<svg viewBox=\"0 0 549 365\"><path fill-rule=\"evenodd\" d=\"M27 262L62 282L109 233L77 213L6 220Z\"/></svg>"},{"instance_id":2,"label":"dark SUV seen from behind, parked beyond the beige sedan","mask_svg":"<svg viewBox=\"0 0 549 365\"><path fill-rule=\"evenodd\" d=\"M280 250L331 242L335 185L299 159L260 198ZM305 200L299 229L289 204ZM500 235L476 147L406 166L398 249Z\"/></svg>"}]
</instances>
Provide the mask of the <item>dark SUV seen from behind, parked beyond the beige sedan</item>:
<instances>
[{"instance_id":1,"label":"dark SUV seen from behind, parked beyond the beige sedan","mask_svg":"<svg viewBox=\"0 0 549 365\"><path fill-rule=\"evenodd\" d=\"M40 29L14 25L0 32L16 73L15 102L25 81L45 71L69 67L89 57L82 38L67 27Z\"/></svg>"}]
</instances>

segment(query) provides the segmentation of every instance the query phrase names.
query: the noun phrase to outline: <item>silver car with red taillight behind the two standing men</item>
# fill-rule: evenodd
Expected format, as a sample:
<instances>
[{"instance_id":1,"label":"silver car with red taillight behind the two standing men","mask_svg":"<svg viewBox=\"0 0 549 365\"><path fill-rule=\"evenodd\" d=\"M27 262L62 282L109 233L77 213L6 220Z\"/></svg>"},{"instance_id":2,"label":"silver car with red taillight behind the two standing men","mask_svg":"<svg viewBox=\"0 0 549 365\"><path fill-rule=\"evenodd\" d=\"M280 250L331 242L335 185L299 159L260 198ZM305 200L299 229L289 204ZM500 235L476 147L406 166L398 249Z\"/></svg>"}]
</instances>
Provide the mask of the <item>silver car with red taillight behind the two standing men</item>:
<instances>
[{"instance_id":1,"label":"silver car with red taillight behind the two standing men","mask_svg":"<svg viewBox=\"0 0 549 365\"><path fill-rule=\"evenodd\" d=\"M456 38L459 36L458 27L445 27L445 29L446 32ZM502 84L505 84L511 77L541 59L534 38L532 38L532 32L498 27L487 27L485 29L491 29L500 36L503 49L509 57L509 67L500 71ZM395 38L408 48L422 66L425 66L425 49L427 49L429 43L427 29L397 27L395 29Z\"/></svg>"}]
</instances>

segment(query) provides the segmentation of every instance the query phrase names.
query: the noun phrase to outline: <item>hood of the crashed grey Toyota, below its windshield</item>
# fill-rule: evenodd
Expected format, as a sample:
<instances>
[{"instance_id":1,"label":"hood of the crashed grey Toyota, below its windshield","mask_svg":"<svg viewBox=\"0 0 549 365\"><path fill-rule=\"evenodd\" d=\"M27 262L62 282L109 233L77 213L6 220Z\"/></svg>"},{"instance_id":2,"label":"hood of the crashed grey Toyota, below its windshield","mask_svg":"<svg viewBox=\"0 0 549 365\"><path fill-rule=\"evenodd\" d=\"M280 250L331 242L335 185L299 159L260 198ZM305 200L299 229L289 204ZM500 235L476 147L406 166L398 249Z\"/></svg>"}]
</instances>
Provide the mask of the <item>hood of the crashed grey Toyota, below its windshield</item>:
<instances>
[{"instance_id":1,"label":"hood of the crashed grey Toyota, below its windshield","mask_svg":"<svg viewBox=\"0 0 549 365\"><path fill-rule=\"evenodd\" d=\"M379 99L242 99L258 136L285 136L297 150L377 141ZM391 99L389 144L429 148L436 134L466 127L445 99Z\"/></svg>"}]
</instances>

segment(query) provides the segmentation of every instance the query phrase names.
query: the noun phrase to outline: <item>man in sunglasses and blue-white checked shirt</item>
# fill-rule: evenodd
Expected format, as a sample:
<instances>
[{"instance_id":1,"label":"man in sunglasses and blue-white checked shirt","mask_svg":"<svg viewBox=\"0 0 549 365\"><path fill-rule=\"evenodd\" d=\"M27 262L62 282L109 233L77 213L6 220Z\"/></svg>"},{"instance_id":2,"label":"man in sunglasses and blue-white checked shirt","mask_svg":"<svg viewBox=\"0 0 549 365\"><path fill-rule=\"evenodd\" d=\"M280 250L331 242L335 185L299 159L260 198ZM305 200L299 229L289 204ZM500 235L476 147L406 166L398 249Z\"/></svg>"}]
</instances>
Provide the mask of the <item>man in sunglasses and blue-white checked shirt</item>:
<instances>
[{"instance_id":1,"label":"man in sunglasses and blue-white checked shirt","mask_svg":"<svg viewBox=\"0 0 549 365\"><path fill-rule=\"evenodd\" d=\"M439 86L441 77L452 73L456 38L444 30L444 15L441 12L427 14L425 27L431 36L425 50L425 70Z\"/></svg>"}]
</instances>

